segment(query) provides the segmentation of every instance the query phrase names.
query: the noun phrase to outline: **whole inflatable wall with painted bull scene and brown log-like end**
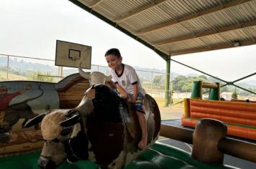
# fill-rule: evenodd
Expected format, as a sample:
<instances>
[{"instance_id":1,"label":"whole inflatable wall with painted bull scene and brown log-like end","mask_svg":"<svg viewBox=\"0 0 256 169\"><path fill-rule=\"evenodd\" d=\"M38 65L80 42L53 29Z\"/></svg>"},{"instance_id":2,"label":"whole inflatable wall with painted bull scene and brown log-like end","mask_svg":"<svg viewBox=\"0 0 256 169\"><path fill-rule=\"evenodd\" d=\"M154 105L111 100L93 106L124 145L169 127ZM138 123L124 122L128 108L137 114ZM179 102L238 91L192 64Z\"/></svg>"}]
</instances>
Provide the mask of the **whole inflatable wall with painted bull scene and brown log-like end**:
<instances>
[{"instance_id":1,"label":"whole inflatable wall with painted bull scene and brown log-like end","mask_svg":"<svg viewBox=\"0 0 256 169\"><path fill-rule=\"evenodd\" d=\"M88 87L79 74L58 83L0 82L0 158L40 150L40 125L24 128L25 123L48 110L76 107Z\"/></svg>"}]
</instances>

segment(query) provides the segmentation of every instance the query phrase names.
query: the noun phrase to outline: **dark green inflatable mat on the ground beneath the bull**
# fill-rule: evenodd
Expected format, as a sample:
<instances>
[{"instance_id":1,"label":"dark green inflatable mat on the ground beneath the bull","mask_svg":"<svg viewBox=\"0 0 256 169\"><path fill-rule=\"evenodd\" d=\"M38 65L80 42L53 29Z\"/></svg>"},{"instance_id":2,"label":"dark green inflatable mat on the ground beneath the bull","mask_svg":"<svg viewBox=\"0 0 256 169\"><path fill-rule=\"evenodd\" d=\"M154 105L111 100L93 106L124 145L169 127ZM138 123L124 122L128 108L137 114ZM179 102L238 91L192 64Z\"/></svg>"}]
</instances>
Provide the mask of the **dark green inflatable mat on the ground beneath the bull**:
<instances>
[{"instance_id":1,"label":"dark green inflatable mat on the ground beneath the bull","mask_svg":"<svg viewBox=\"0 0 256 169\"><path fill-rule=\"evenodd\" d=\"M0 158L1 169L37 169L37 160L40 152L27 155L16 155L9 158ZM96 169L99 165L88 160L81 160L71 164L62 163L58 169ZM227 165L209 165L200 163L191 158L189 153L178 148L155 143L150 149L145 150L136 160L129 163L125 169L196 169L196 168L232 168Z\"/></svg>"}]
</instances>

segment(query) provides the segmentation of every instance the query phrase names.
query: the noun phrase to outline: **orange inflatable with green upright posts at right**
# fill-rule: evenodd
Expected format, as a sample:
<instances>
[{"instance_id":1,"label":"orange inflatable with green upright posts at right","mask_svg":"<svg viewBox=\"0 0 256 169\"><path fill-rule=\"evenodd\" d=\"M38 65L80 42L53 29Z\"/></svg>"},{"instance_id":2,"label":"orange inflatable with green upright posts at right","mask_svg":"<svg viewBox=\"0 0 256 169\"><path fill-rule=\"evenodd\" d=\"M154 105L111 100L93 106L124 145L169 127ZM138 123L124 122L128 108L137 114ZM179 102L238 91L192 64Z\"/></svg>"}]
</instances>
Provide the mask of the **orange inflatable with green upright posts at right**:
<instances>
[{"instance_id":1,"label":"orange inflatable with green upright posts at right","mask_svg":"<svg viewBox=\"0 0 256 169\"><path fill-rule=\"evenodd\" d=\"M210 88L209 100L202 100L203 88ZM256 104L221 101L219 91L219 83L193 82L191 98L184 100L182 125L194 128L198 120L212 118L227 125L227 135L256 140Z\"/></svg>"}]
</instances>

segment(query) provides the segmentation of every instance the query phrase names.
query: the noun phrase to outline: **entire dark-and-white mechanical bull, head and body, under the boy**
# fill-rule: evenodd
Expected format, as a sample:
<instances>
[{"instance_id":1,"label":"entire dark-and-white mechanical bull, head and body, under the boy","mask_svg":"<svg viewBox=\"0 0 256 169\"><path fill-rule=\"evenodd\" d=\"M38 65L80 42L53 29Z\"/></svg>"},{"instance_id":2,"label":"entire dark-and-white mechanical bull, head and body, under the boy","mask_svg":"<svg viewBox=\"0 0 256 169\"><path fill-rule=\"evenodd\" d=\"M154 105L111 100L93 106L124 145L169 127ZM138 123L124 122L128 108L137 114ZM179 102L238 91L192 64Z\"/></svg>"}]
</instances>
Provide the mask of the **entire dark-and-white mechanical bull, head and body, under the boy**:
<instances>
[{"instance_id":1,"label":"entire dark-and-white mechanical bull, head and body, under the boy","mask_svg":"<svg viewBox=\"0 0 256 169\"><path fill-rule=\"evenodd\" d=\"M147 148L155 143L160 131L160 111L150 95L145 96ZM30 120L40 122L45 145L38 164L54 168L68 159L91 160L101 168L123 168L142 152L137 147L140 125L132 105L103 84L86 91L73 110L52 110Z\"/></svg>"}]
</instances>

